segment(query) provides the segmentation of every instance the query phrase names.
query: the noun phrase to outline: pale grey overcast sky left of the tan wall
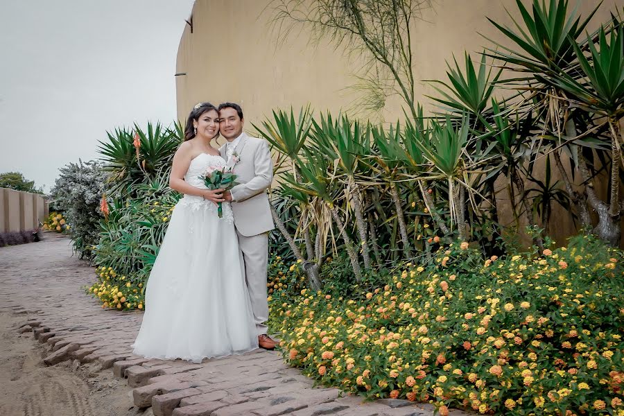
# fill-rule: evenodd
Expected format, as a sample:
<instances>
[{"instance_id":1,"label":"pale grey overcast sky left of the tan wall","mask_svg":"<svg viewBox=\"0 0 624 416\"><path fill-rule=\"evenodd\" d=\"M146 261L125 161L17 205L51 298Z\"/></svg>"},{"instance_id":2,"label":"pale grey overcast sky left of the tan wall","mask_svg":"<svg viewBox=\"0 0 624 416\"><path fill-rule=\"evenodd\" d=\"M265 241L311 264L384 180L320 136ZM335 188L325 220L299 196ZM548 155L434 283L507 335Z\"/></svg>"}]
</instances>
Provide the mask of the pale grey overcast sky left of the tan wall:
<instances>
[{"instance_id":1,"label":"pale grey overcast sky left of the tan wall","mask_svg":"<svg viewBox=\"0 0 624 416\"><path fill-rule=\"evenodd\" d=\"M0 173L49 191L107 130L171 123L193 0L0 0Z\"/></svg>"}]
</instances>

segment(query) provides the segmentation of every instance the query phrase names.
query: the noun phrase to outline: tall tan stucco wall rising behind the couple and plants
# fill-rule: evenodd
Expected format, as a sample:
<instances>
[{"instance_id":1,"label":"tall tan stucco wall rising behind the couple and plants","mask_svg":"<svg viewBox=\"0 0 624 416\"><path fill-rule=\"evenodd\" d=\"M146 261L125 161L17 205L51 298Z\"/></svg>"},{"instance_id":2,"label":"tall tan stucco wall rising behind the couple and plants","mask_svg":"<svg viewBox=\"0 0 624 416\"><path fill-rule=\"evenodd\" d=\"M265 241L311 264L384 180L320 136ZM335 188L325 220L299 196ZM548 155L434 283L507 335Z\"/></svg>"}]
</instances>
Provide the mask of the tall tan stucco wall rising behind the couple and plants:
<instances>
[{"instance_id":1,"label":"tall tan stucco wall rising behind the couple and plants","mask_svg":"<svg viewBox=\"0 0 624 416\"><path fill-rule=\"evenodd\" d=\"M530 1L524 1L530 4ZM322 42L310 42L307 29L293 31L283 44L277 44L277 33L272 31L274 17L271 0L196 0L193 6L193 33L184 29L177 54L177 114L185 121L189 110L199 101L218 104L234 101L245 112L245 129L253 132L258 124L275 108L298 110L311 103L315 110L350 110L358 97L352 73L358 61L348 58L341 49ZM570 0L575 5L575 0ZM596 0L582 0L578 7L587 15L596 7ZM597 27L609 19L609 12L624 6L624 0L603 3L591 22ZM519 15L515 0L434 0L433 9L417 21L413 28L415 76L421 80L417 100L431 109L431 100L425 95L437 95L435 89L422 80L446 80L447 64L455 54L462 65L463 53L474 59L489 40L508 44L486 17L502 24L512 24L505 12L508 8ZM518 16L519 18L519 16ZM501 93L502 94L502 93ZM358 115L358 114L355 114ZM390 99L381 114L385 121L402 118L401 101ZM223 139L222 139L223 140ZM553 175L556 177L555 165ZM544 169L543 160L537 169ZM578 175L577 175L578 177ZM500 181L504 186L503 180ZM513 223L506 191L499 193L502 223ZM523 227L521 225L521 227ZM569 214L559 207L553 213L552 234L560 243L575 232ZM624 233L623 233L624 234ZM623 236L624 240L624 236Z\"/></svg>"}]
</instances>

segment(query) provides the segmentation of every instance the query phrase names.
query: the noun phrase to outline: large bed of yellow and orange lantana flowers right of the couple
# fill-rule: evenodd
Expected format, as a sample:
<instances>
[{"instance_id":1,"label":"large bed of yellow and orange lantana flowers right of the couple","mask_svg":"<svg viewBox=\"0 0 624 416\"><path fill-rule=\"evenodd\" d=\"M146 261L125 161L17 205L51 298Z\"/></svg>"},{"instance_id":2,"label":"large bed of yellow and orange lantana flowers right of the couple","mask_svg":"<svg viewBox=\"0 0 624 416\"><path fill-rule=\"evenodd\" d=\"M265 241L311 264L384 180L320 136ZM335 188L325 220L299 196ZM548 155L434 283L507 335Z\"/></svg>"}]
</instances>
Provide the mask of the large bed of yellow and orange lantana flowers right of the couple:
<instances>
[{"instance_id":1,"label":"large bed of yellow and orange lantana flowers right of the couple","mask_svg":"<svg viewBox=\"0 0 624 416\"><path fill-rule=\"evenodd\" d=\"M462 243L348 299L274 291L270 325L291 365L369 398L624 415L623 261L589 237L485 260Z\"/></svg>"}]
</instances>

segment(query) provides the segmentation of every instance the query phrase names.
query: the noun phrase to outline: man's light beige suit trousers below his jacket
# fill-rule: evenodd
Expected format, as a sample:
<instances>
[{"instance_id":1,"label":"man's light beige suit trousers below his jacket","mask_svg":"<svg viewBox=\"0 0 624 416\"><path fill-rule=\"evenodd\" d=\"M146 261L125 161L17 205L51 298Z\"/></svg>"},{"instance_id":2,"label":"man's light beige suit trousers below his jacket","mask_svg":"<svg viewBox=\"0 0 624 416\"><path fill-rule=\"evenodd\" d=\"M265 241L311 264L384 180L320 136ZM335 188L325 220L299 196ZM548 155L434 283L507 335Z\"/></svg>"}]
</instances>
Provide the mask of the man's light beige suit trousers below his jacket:
<instances>
[{"instance_id":1,"label":"man's light beige suit trousers below his jacket","mask_svg":"<svg viewBox=\"0 0 624 416\"><path fill-rule=\"evenodd\" d=\"M266 275L268 267L268 232L257 236L245 237L238 231L239 248L245 265L245 281L251 300L254 322L258 335L266 333L268 320L268 301L266 293Z\"/></svg>"}]
</instances>

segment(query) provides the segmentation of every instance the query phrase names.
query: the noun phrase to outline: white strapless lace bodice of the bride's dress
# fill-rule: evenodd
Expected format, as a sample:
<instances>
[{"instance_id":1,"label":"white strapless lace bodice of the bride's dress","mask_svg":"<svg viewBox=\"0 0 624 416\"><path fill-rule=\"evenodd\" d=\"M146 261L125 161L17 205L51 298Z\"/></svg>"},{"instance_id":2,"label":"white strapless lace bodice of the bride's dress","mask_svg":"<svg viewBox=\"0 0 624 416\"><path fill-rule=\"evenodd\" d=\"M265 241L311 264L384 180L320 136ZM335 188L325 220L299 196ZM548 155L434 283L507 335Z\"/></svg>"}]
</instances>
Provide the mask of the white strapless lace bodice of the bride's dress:
<instances>
[{"instance_id":1,"label":"white strapless lace bodice of the bride's dress","mask_svg":"<svg viewBox=\"0 0 624 416\"><path fill-rule=\"evenodd\" d=\"M204 180L200 177L206 173L208 168L223 168L225 166L225 160L223 157L217 155L209 155L208 153L200 153L197 157L191 160L189 170L184 175L184 181L196 188L207 189L204 184ZM184 195L177 206L189 207L196 211L198 209L207 209L208 211L214 211L214 215L217 215L216 205L208 200L205 200L201 196ZM229 202L223 202L223 219L228 223L234 221L232 215L232 207L229 206Z\"/></svg>"}]
</instances>

